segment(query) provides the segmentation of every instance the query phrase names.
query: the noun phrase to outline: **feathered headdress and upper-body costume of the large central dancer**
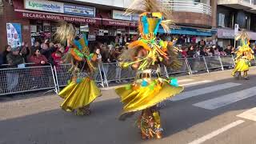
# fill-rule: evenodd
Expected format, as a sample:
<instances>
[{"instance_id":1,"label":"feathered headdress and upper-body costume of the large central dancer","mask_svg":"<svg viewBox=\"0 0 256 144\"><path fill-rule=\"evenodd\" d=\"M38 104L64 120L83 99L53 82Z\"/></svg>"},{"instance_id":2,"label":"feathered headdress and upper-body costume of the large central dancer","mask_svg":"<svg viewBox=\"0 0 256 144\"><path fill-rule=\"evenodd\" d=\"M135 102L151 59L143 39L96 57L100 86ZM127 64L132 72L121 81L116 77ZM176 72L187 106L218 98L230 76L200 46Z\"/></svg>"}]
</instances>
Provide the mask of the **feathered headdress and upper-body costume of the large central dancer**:
<instances>
[{"instance_id":1,"label":"feathered headdress and upper-body costume of the large central dancer","mask_svg":"<svg viewBox=\"0 0 256 144\"><path fill-rule=\"evenodd\" d=\"M173 23L170 20L171 10L166 9L160 0L134 0L125 14L132 14L137 10L144 11L139 14L138 20L140 38L131 42L128 51L119 57L120 65L127 67L134 65L134 63L140 63L138 70L145 70L154 65L155 62L163 62L166 66L178 69L181 64L177 59L177 48L173 46L172 42L164 42L156 38L159 26L162 26L166 32L170 30L170 24ZM141 48L147 51L146 57L134 57L134 54L136 55Z\"/></svg>"}]
</instances>

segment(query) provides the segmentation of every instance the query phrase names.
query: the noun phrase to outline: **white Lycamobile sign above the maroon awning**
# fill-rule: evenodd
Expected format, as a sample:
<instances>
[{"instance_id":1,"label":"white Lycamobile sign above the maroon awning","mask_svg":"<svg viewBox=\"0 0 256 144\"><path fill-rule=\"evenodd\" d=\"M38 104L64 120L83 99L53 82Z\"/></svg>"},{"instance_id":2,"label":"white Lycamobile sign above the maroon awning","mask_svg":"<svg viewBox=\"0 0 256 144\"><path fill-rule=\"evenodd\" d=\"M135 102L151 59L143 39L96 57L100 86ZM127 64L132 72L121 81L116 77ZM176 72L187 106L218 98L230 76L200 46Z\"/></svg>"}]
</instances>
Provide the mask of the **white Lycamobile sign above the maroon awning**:
<instances>
[{"instance_id":1,"label":"white Lycamobile sign above the maroon awning","mask_svg":"<svg viewBox=\"0 0 256 144\"><path fill-rule=\"evenodd\" d=\"M64 13L64 3L42 0L24 0L25 9Z\"/></svg>"}]
</instances>

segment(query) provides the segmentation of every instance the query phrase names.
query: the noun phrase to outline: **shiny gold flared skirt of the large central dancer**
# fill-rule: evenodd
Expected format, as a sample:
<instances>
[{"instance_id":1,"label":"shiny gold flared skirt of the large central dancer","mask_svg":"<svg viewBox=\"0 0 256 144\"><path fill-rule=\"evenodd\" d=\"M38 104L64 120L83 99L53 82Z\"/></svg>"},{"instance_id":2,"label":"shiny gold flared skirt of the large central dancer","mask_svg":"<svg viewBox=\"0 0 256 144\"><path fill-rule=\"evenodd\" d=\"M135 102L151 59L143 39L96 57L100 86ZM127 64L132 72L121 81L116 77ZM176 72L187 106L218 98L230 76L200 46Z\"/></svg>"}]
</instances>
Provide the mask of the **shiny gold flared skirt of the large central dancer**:
<instances>
[{"instance_id":1,"label":"shiny gold flared skirt of the large central dancer","mask_svg":"<svg viewBox=\"0 0 256 144\"><path fill-rule=\"evenodd\" d=\"M123 103L122 114L145 110L184 90L182 86L171 86L161 79L146 79L146 86L142 86L142 82L135 82L117 88L115 91L121 97Z\"/></svg>"}]
</instances>

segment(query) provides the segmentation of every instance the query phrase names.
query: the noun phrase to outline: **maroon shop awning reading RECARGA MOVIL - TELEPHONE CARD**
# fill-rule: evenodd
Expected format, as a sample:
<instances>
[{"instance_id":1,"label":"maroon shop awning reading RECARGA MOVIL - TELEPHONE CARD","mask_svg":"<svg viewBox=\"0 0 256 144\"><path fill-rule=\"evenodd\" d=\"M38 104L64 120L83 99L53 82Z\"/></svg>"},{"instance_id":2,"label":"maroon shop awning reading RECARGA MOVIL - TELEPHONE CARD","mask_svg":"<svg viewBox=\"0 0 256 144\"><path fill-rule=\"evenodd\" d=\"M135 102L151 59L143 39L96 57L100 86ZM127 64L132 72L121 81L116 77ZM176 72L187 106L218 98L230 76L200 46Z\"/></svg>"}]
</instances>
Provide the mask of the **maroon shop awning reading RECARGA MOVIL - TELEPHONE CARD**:
<instances>
[{"instance_id":1,"label":"maroon shop awning reading RECARGA MOVIL - TELEPHONE CARD","mask_svg":"<svg viewBox=\"0 0 256 144\"><path fill-rule=\"evenodd\" d=\"M137 27L138 22L130 21L120 21L108 18L90 18L90 17L81 17L68 14L54 14L54 13L45 13L32 10L15 10L19 18L29 18L29 19L42 19L42 20L65 20L67 22L79 22L79 23L89 23L96 25L105 25L105 26L130 26Z\"/></svg>"}]
</instances>

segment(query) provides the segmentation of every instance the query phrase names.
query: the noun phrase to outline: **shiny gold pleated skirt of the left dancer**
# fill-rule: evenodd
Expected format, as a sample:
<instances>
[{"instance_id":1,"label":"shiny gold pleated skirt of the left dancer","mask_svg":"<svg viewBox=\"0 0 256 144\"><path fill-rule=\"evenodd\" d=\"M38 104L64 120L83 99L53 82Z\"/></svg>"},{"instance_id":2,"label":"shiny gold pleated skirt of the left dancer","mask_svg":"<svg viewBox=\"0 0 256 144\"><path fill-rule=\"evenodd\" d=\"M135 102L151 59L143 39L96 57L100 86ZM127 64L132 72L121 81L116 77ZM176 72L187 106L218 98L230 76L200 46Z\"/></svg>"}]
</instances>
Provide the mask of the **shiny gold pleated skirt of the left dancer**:
<instances>
[{"instance_id":1,"label":"shiny gold pleated skirt of the left dancer","mask_svg":"<svg viewBox=\"0 0 256 144\"><path fill-rule=\"evenodd\" d=\"M71 82L59 94L65 101L61 107L66 111L77 110L88 106L95 98L101 95L101 91L90 78L83 78L82 82Z\"/></svg>"}]
</instances>

